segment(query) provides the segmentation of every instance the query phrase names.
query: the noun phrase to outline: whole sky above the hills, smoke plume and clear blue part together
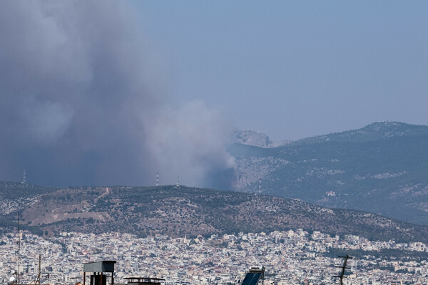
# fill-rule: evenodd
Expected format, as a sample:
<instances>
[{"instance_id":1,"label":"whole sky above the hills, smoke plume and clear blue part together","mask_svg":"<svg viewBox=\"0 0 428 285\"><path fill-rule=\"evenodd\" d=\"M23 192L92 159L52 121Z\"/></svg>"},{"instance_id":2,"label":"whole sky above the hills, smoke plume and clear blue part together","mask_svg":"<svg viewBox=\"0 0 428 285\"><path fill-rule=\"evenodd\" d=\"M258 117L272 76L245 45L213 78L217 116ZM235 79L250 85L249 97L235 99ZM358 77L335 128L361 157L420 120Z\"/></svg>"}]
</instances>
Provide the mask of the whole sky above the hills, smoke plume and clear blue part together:
<instances>
[{"instance_id":1,"label":"whole sky above the hills, smoke plume and clear blue part together","mask_svg":"<svg viewBox=\"0 0 428 285\"><path fill-rule=\"evenodd\" d=\"M207 181L234 129L428 125L427 1L0 2L0 180Z\"/></svg>"}]
</instances>

